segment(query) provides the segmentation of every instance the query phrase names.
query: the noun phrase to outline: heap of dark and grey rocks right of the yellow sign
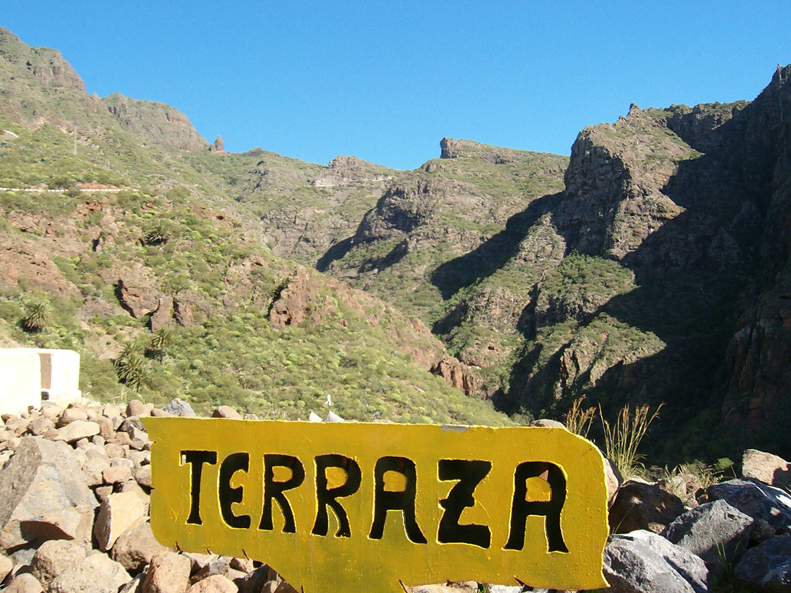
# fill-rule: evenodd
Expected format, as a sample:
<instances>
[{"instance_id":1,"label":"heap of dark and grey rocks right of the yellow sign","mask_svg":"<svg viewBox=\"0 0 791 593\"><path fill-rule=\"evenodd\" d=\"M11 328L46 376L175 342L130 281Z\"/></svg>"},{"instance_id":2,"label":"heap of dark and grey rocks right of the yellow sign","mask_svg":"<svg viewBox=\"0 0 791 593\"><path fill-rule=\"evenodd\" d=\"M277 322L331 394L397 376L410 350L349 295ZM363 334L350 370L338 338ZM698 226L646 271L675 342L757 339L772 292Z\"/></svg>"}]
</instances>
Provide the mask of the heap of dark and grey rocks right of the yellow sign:
<instances>
[{"instance_id":1,"label":"heap of dark and grey rocks right of the yellow sign","mask_svg":"<svg viewBox=\"0 0 791 593\"><path fill-rule=\"evenodd\" d=\"M744 478L700 488L686 506L672 480L623 484L604 550L608 591L791 591L791 497L778 487L788 466L747 450Z\"/></svg>"}]
</instances>

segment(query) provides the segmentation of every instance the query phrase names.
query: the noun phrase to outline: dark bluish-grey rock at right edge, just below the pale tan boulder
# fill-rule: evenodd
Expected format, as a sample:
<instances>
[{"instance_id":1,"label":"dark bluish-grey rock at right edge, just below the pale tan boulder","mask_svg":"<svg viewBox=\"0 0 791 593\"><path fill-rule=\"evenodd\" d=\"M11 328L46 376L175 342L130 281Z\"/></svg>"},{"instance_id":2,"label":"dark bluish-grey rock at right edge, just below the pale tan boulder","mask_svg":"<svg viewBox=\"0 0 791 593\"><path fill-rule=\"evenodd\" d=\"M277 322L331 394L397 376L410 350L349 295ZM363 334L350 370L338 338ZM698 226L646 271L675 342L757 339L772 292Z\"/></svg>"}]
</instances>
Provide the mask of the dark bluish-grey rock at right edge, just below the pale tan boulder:
<instances>
[{"instance_id":1,"label":"dark bluish-grey rock at right edge, just below the pale tan boulder","mask_svg":"<svg viewBox=\"0 0 791 593\"><path fill-rule=\"evenodd\" d=\"M725 500L753 519L764 519L775 529L791 531L791 497L779 488L754 478L739 478L710 485L712 500Z\"/></svg>"}]
</instances>

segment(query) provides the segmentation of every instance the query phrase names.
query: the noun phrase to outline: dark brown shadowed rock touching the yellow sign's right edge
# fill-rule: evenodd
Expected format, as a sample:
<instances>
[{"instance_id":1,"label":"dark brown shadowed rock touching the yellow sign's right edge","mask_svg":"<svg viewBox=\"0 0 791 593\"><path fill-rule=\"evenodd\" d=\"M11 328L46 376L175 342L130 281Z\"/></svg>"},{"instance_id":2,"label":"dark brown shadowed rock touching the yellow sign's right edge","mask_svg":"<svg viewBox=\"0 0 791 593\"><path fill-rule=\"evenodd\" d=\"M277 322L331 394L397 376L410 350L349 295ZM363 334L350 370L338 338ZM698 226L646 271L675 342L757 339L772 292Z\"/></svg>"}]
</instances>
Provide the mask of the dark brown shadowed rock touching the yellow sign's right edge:
<instances>
[{"instance_id":1,"label":"dark brown shadowed rock touching the yellow sign's right edge","mask_svg":"<svg viewBox=\"0 0 791 593\"><path fill-rule=\"evenodd\" d=\"M675 494L655 485L628 480L618 490L610 508L613 533L629 533L647 529L660 533L684 512L684 505Z\"/></svg>"}]
</instances>

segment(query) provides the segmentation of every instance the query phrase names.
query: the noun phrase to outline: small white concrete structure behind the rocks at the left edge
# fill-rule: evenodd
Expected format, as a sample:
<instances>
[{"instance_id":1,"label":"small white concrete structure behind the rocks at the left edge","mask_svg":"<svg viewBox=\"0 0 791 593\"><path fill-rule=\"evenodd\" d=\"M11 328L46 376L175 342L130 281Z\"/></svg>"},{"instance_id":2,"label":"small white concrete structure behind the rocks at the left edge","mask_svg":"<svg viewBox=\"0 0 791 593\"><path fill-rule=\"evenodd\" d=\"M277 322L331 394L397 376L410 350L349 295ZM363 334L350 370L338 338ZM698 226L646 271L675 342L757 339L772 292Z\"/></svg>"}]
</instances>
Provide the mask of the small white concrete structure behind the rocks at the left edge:
<instances>
[{"instance_id":1,"label":"small white concrete structure behind the rocks at the left edge","mask_svg":"<svg viewBox=\"0 0 791 593\"><path fill-rule=\"evenodd\" d=\"M0 414L21 414L42 401L65 406L82 398L80 355L74 350L0 349Z\"/></svg>"}]
</instances>

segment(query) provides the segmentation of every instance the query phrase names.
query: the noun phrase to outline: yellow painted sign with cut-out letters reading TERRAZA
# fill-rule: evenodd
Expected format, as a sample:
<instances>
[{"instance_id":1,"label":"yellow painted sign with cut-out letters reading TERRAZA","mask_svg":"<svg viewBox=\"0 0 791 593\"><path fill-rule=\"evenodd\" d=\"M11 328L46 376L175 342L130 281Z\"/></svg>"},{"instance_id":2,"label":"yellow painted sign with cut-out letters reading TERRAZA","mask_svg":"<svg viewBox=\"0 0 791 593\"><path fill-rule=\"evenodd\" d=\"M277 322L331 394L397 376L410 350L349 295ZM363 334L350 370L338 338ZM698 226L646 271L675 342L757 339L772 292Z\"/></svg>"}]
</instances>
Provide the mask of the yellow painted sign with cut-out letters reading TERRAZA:
<instances>
[{"instance_id":1,"label":"yellow painted sign with cut-out letters reading TERRAZA","mask_svg":"<svg viewBox=\"0 0 791 593\"><path fill-rule=\"evenodd\" d=\"M166 546L305 593L607 587L604 459L565 429L144 418Z\"/></svg>"}]
</instances>

